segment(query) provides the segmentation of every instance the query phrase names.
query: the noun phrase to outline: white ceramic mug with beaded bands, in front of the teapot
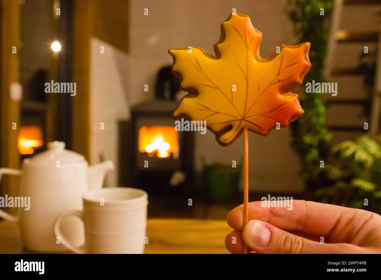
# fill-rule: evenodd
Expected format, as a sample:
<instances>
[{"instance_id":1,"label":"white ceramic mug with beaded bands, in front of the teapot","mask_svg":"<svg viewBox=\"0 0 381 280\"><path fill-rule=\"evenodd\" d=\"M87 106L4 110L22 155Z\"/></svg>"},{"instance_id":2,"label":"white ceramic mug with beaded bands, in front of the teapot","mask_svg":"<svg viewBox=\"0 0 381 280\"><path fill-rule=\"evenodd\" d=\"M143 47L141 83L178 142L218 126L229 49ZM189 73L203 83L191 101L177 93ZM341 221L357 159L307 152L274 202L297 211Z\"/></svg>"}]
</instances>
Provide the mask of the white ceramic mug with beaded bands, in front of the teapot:
<instances>
[{"instance_id":1,"label":"white ceramic mug with beaded bands, in front of the teapot","mask_svg":"<svg viewBox=\"0 0 381 280\"><path fill-rule=\"evenodd\" d=\"M116 187L83 195L83 211L61 213L54 223L57 240L74 253L142 254L147 225L148 196L144 190ZM60 223L78 216L85 224L85 249L75 247L62 235ZM59 238L58 238L59 237Z\"/></svg>"}]
</instances>

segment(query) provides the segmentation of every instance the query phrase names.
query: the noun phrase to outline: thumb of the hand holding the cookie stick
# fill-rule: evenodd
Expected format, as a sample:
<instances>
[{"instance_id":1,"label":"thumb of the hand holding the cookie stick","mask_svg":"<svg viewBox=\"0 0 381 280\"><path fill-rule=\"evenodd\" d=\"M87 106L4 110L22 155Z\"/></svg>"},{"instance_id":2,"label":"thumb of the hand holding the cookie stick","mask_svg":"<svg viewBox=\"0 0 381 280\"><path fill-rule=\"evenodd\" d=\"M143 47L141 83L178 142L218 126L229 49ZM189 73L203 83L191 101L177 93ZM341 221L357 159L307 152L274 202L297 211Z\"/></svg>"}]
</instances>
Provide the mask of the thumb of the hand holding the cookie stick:
<instances>
[{"instance_id":1,"label":"thumb of the hand holding the cookie stick","mask_svg":"<svg viewBox=\"0 0 381 280\"><path fill-rule=\"evenodd\" d=\"M320 243L278 229L259 220L247 222L243 241L256 253L263 254L361 254L364 248L348 243Z\"/></svg>"}]
</instances>

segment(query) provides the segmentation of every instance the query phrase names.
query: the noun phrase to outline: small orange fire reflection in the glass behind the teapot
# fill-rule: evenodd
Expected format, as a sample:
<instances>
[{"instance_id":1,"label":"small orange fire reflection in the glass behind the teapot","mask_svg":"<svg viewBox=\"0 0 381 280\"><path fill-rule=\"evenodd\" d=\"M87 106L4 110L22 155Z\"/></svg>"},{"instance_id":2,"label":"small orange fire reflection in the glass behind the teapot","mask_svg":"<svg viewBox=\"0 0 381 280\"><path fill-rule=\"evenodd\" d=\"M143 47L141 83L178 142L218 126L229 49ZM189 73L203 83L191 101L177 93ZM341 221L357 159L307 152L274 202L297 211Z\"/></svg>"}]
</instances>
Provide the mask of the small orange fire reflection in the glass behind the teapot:
<instances>
[{"instance_id":1,"label":"small orange fire reflection in the glass behind the teapot","mask_svg":"<svg viewBox=\"0 0 381 280\"><path fill-rule=\"evenodd\" d=\"M34 153L33 148L41 147L42 129L36 125L21 126L18 136L18 148L22 155L31 155Z\"/></svg>"}]
</instances>

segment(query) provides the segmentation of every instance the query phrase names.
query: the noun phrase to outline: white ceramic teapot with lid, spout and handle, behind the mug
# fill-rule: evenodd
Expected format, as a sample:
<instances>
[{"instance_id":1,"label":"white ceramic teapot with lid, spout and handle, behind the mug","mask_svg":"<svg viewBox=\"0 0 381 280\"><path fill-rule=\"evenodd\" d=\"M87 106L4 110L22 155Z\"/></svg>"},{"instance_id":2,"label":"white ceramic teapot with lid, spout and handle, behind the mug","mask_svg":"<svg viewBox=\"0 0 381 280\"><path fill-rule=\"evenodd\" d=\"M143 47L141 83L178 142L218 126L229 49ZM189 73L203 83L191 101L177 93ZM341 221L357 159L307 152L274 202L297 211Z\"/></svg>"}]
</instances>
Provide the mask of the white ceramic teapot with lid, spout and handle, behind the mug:
<instances>
[{"instance_id":1,"label":"white ceramic teapot with lid, spout and handle, behind the mug","mask_svg":"<svg viewBox=\"0 0 381 280\"><path fill-rule=\"evenodd\" d=\"M104 176L112 169L114 164L110 160L88 167L82 155L65 149L64 142L49 142L48 150L26 158L21 170L0 168L0 179L2 174L21 176L18 197L30 198L29 210L22 207L19 214L13 216L0 209L0 217L19 223L28 249L64 251L66 248L59 243L61 237L53 234L55 219L62 211L81 210L82 195L88 190L100 189ZM79 219L68 217L61 230L75 246L85 243Z\"/></svg>"}]
</instances>

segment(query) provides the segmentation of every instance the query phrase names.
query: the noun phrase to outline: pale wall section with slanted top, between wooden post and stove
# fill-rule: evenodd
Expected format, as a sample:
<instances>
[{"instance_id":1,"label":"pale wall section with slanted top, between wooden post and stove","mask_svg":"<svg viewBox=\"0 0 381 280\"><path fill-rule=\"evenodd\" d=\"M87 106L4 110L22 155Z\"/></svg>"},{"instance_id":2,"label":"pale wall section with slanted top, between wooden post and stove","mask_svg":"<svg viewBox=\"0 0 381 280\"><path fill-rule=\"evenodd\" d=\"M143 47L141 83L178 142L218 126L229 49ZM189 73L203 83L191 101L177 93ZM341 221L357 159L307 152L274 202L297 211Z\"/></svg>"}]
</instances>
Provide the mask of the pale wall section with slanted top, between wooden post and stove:
<instances>
[{"instance_id":1,"label":"pale wall section with slanted top, between wooden post and stove","mask_svg":"<svg viewBox=\"0 0 381 280\"><path fill-rule=\"evenodd\" d=\"M105 52L100 53L100 46ZM117 121L127 119L129 106L128 58L126 53L97 38L91 39L90 66L90 165L101 158L112 160L114 171L107 174L105 186L117 186L118 127ZM100 123L104 123L101 130Z\"/></svg>"}]
</instances>

